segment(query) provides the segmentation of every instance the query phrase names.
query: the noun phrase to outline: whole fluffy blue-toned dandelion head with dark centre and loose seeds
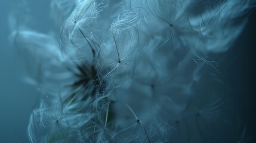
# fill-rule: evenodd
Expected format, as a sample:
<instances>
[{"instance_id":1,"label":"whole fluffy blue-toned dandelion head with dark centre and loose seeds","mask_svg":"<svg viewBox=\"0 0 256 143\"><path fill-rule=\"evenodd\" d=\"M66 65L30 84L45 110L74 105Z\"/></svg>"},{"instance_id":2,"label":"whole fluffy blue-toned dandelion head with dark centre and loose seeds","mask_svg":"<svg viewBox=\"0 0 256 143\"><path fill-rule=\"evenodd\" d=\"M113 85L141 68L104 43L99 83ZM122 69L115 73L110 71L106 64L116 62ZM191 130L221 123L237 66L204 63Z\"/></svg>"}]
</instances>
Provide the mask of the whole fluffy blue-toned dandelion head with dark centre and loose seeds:
<instances>
[{"instance_id":1,"label":"whole fluffy blue-toned dandelion head with dark centre and loose seeds","mask_svg":"<svg viewBox=\"0 0 256 143\"><path fill-rule=\"evenodd\" d=\"M38 88L30 142L243 142L218 61L256 1L51 0L54 30L10 14ZM242 130L242 131L241 131Z\"/></svg>"}]
</instances>

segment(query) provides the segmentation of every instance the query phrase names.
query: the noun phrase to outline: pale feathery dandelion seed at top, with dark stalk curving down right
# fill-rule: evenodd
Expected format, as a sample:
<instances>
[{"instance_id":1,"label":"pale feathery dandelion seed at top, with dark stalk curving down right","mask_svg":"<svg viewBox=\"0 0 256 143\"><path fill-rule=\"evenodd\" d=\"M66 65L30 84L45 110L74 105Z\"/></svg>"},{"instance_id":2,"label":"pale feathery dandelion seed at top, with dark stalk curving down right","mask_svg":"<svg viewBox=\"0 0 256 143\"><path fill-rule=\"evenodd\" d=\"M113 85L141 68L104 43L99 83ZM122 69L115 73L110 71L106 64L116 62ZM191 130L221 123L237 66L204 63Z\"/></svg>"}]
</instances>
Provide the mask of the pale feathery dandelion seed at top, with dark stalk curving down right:
<instances>
[{"instance_id":1,"label":"pale feathery dandelion seed at top, with dark stalk curving down right","mask_svg":"<svg viewBox=\"0 0 256 143\"><path fill-rule=\"evenodd\" d=\"M78 54L81 54L80 52L85 52L77 51L77 49L82 50L81 48L88 44L95 57L95 51L101 42L93 27L103 8L101 5L101 2L97 3L94 0L82 1L72 11L61 30L60 49L63 54L76 58L79 56ZM86 53L82 54L84 57L85 55L89 56Z\"/></svg>"}]
</instances>

